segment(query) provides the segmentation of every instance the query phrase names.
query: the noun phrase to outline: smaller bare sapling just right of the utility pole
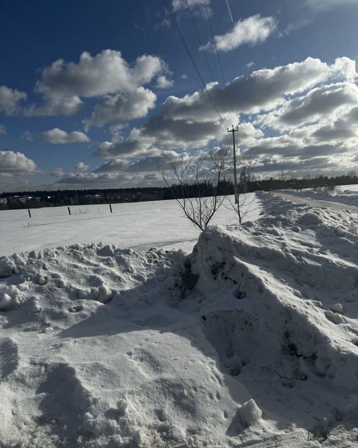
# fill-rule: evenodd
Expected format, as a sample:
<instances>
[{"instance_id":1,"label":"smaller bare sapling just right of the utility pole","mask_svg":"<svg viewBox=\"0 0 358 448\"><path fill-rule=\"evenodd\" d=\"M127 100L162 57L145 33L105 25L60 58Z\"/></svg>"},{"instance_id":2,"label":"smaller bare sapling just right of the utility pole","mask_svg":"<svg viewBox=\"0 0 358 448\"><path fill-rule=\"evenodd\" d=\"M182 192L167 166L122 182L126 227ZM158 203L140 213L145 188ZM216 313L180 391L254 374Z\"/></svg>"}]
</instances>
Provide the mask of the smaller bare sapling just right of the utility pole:
<instances>
[{"instance_id":1,"label":"smaller bare sapling just right of the utility pole","mask_svg":"<svg viewBox=\"0 0 358 448\"><path fill-rule=\"evenodd\" d=\"M254 170L259 158L253 158L251 151L248 152L248 155L243 152L240 157L236 157L237 160L239 160L238 169L241 169L240 183L238 185L237 192L237 204L235 204L232 198L228 196L228 202L230 205L226 206L226 208L233 210L236 213L239 223L241 224L244 218L252 210L255 202L255 198L246 196L246 193L249 193L248 182L255 180L255 176L252 171Z\"/></svg>"}]
</instances>

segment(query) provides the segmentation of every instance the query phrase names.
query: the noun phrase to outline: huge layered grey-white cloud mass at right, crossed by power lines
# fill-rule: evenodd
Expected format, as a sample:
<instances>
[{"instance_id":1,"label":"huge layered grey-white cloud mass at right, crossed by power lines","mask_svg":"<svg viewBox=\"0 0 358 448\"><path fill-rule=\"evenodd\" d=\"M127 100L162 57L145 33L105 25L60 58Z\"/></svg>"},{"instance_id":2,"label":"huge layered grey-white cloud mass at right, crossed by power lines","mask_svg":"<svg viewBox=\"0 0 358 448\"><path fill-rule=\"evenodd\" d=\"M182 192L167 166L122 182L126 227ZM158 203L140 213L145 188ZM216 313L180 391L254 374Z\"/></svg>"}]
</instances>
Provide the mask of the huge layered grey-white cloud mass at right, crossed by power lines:
<instances>
[{"instance_id":1,"label":"huge layered grey-white cloud mass at right, crossed by power lines","mask_svg":"<svg viewBox=\"0 0 358 448\"><path fill-rule=\"evenodd\" d=\"M346 166L342 165L342 154L353 151L357 141L358 125L354 120L358 123L358 112L357 116L345 118L346 125L338 120L343 111L358 105L358 88L352 83L355 73L354 61L347 58L339 58L332 65L308 58L258 70L248 78L236 78L225 89L216 88L213 83L207 87L223 116L223 105L233 107L237 114L251 114L252 122L239 125L240 143L266 157L261 173L279 171L285 158L290 169L297 164L296 172L303 169L314 172L319 167L322 169L322 163L332 172L334 162L337 166ZM322 84L327 81L329 84ZM259 112L261 115L255 120ZM267 138L257 128L258 123L287 133ZM99 146L95 155L115 160L103 164L97 171L124 170L128 158L148 161L158 157L161 149L192 148L215 140L225 143L227 135L205 92L182 98L171 96L158 114L132 129L126 139L103 142ZM130 169L133 168L127 166L126 171Z\"/></svg>"}]
</instances>

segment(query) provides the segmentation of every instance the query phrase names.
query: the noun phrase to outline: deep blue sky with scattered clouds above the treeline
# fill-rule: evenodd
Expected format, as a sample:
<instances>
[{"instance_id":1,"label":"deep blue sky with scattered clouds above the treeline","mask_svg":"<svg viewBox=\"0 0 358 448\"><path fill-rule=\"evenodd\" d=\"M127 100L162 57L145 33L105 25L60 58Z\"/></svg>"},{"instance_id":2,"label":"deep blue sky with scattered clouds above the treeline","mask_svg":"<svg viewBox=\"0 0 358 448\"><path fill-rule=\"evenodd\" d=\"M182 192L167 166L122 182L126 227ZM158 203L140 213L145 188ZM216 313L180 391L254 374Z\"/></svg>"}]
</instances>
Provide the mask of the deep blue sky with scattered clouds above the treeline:
<instances>
[{"instance_id":1,"label":"deep blue sky with scattered clouds above the treeline","mask_svg":"<svg viewBox=\"0 0 358 448\"><path fill-rule=\"evenodd\" d=\"M204 0L188 0L257 176L357 169L358 0L228 2L234 23L206 0L224 86ZM210 83L185 0L170 5ZM158 158L227 139L162 0L2 1L0 38L1 191L160 185Z\"/></svg>"}]
</instances>

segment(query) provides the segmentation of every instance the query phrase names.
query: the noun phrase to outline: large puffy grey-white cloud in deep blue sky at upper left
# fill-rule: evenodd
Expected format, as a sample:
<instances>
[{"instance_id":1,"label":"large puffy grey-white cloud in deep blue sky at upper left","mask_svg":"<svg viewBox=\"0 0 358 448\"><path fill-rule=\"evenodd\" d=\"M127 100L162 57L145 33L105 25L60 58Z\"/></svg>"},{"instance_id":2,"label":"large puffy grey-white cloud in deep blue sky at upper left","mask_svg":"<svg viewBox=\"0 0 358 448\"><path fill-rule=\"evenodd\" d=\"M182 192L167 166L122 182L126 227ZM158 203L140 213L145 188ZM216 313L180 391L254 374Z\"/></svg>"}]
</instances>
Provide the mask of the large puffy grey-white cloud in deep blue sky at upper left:
<instances>
[{"instance_id":1,"label":"large puffy grey-white cloud in deep blue sky at upper left","mask_svg":"<svg viewBox=\"0 0 358 448\"><path fill-rule=\"evenodd\" d=\"M120 51L103 50L95 56L85 51L78 63L58 59L42 70L35 92L42 95L45 103L42 106L31 105L24 113L28 116L70 116L81 110L82 99L106 95L114 95L114 109L118 95L127 98L127 101L139 98L143 103L144 94L138 88L167 71L165 62L157 56L142 55L129 64Z\"/></svg>"}]
</instances>

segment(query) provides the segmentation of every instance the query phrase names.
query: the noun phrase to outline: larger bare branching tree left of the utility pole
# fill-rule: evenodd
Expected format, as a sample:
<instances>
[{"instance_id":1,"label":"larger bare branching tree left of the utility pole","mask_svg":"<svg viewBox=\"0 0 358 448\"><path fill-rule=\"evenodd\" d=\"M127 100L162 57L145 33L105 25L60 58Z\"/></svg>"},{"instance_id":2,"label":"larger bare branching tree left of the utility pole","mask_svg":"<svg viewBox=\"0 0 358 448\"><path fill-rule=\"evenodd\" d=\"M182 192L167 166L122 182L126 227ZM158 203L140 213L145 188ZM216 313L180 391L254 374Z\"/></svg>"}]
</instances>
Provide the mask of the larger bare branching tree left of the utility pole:
<instances>
[{"instance_id":1,"label":"larger bare branching tree left of the utility pole","mask_svg":"<svg viewBox=\"0 0 358 448\"><path fill-rule=\"evenodd\" d=\"M219 187L230 160L230 148L225 146L196 149L191 156L179 154L170 162L157 162L158 172L183 215L200 230L207 227L225 199Z\"/></svg>"}]
</instances>

